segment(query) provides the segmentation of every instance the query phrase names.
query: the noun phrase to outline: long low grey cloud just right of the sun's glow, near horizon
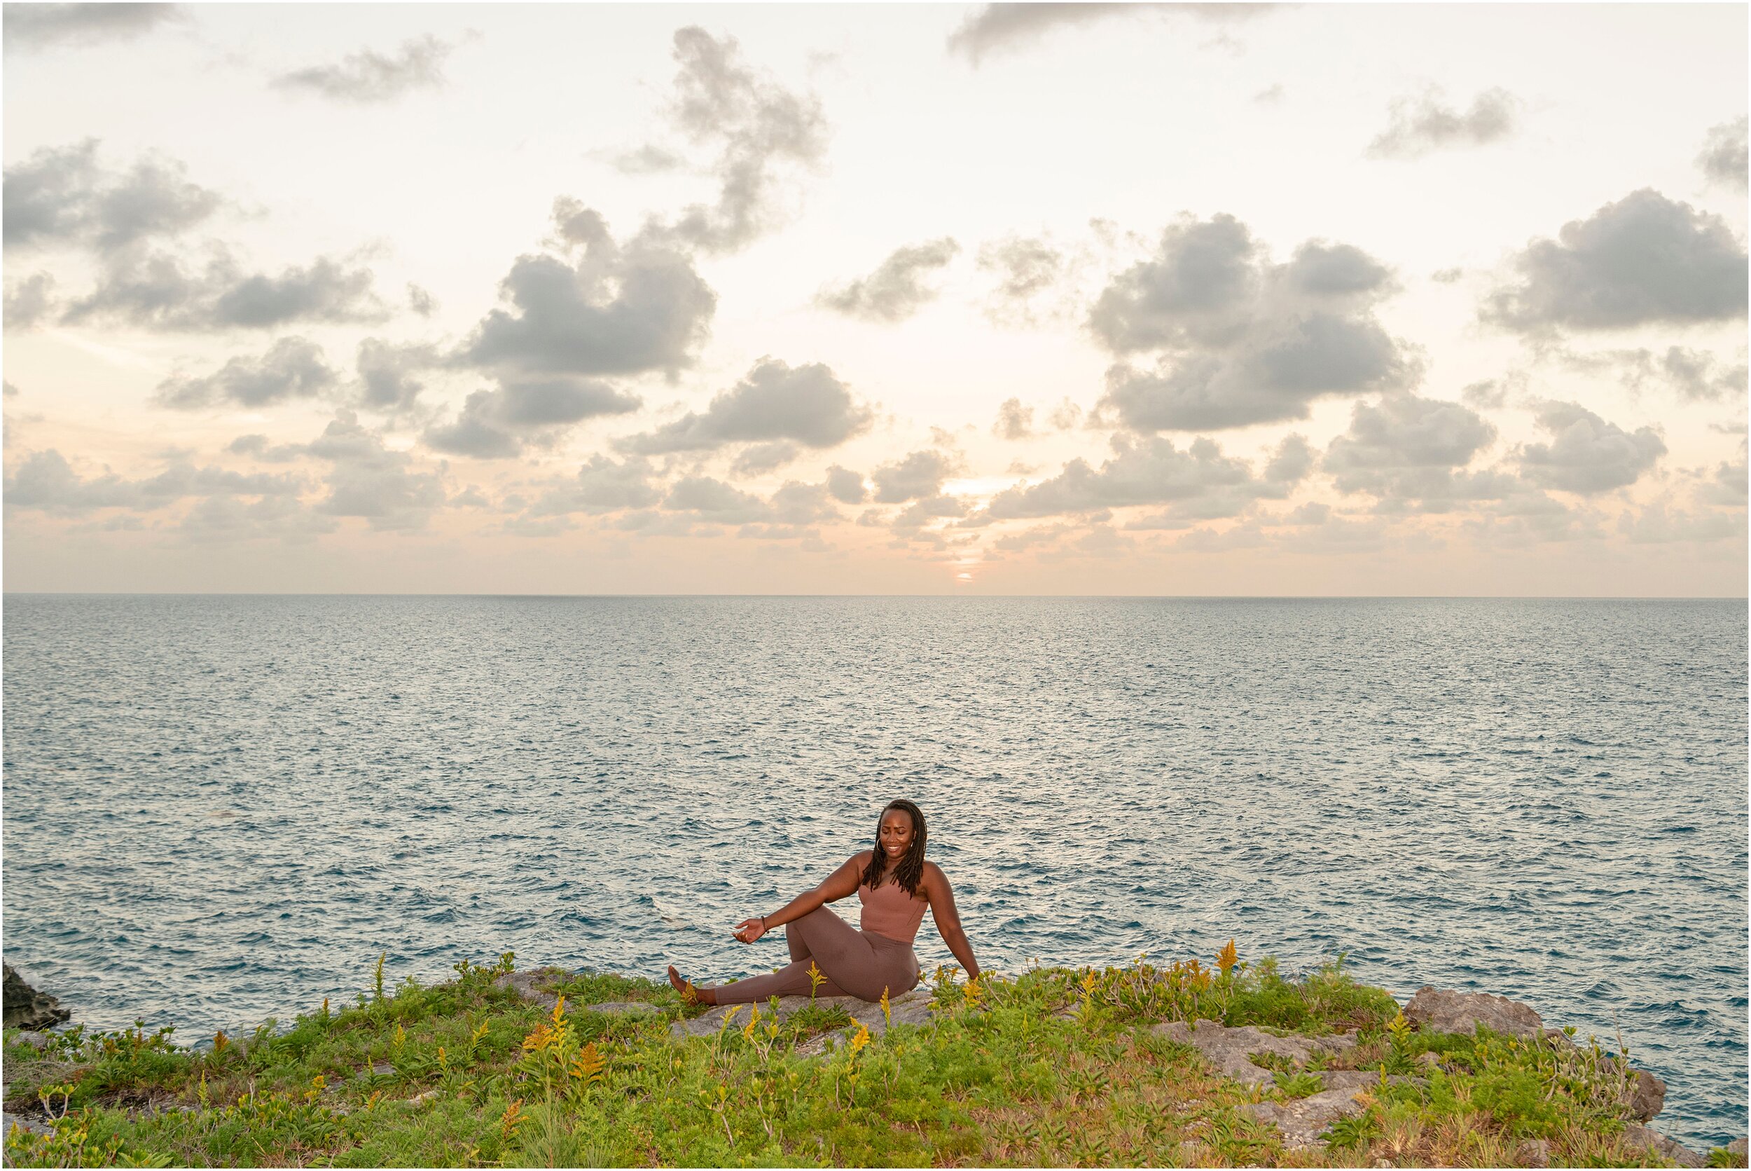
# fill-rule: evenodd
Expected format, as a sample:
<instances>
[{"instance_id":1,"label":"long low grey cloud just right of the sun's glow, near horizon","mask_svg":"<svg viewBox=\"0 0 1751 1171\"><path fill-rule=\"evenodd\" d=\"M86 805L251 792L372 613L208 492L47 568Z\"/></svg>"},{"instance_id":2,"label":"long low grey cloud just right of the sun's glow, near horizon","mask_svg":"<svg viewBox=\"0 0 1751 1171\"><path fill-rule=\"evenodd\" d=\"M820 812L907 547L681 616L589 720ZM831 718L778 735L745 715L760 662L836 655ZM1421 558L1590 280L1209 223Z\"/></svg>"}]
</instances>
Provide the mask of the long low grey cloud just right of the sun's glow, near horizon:
<instances>
[{"instance_id":1,"label":"long low grey cloud just right of the sun's glow, near horizon","mask_svg":"<svg viewBox=\"0 0 1751 1171\"><path fill-rule=\"evenodd\" d=\"M1159 436L1115 435L1112 452L1098 470L1077 458L1049 480L998 493L988 512L1010 521L1170 503L1173 519L1238 515L1254 500L1287 496L1311 465L1306 440L1297 435L1283 442L1264 477L1206 438L1182 451Z\"/></svg>"}]
</instances>

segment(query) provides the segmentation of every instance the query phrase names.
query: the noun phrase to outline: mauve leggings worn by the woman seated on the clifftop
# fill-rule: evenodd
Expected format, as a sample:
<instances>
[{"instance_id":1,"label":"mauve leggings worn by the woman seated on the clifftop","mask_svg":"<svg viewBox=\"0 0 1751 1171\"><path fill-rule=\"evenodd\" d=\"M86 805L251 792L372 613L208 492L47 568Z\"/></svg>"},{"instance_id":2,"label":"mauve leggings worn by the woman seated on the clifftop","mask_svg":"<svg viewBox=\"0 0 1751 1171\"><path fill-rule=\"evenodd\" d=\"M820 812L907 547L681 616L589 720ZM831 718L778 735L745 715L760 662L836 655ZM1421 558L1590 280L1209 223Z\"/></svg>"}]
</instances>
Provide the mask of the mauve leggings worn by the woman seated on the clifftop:
<instances>
[{"instance_id":1,"label":"mauve leggings worn by the woman seated on the clifftop","mask_svg":"<svg viewBox=\"0 0 1751 1171\"><path fill-rule=\"evenodd\" d=\"M809 961L821 969L826 983L816 996L856 996L879 1001L909 992L918 983L918 955L911 943L858 931L833 912L819 906L802 919L784 924L790 964L769 976L749 976L713 989L720 1004L753 1004L769 996L807 996Z\"/></svg>"}]
</instances>

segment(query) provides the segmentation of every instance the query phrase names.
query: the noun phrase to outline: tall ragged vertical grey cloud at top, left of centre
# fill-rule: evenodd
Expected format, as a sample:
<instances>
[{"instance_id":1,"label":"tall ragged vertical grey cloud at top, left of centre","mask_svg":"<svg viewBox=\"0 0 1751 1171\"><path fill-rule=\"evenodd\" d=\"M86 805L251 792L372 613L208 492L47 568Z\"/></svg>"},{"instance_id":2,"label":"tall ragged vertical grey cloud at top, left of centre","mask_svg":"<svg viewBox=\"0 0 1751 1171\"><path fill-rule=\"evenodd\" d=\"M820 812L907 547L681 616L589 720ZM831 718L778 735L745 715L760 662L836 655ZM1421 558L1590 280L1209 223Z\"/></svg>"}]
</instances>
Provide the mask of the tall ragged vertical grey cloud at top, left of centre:
<instances>
[{"instance_id":1,"label":"tall ragged vertical grey cloud at top, left of centre","mask_svg":"<svg viewBox=\"0 0 1751 1171\"><path fill-rule=\"evenodd\" d=\"M671 117L695 147L716 149L711 174L720 186L716 203L685 209L664 231L706 252L734 252L786 217L781 175L821 161L826 116L814 95L744 65L734 37L678 28L674 60Z\"/></svg>"}]
</instances>

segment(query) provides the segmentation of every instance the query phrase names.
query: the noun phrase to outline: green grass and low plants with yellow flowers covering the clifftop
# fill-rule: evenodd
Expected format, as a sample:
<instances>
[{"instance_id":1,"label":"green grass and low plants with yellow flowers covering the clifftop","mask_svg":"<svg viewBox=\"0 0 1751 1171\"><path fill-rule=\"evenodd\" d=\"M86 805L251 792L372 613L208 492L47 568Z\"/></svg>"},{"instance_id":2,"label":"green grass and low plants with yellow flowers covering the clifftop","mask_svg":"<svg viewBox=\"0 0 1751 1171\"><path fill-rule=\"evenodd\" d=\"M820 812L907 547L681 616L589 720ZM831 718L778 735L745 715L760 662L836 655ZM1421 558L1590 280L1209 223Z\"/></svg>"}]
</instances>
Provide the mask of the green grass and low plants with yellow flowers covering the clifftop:
<instances>
[{"instance_id":1,"label":"green grass and low plants with yellow flowers covering the clifftop","mask_svg":"<svg viewBox=\"0 0 1751 1171\"><path fill-rule=\"evenodd\" d=\"M930 1027L858 1029L825 1057L798 1047L844 1029L812 1004L784 1022L749 1006L714 1036L672 1040L699 1015L667 983L553 973L546 1011L494 987L499 964L371 990L291 1027L196 1048L170 1029L70 1029L42 1052L5 1034L16 1166L1515 1166L1525 1139L1553 1166L1658 1166L1623 1143L1621 1064L1480 1031L1408 1027L1341 959L1303 978L1224 950L1156 968L1033 968L960 982L939 969ZM592 1003L646 1001L604 1015ZM1361 1043L1271 1090L1215 1075L1150 1031L1213 1018L1278 1033L1359 1029ZM1436 1052L1443 1068L1417 1057ZM1264 1061L1261 1057L1261 1061ZM1329 1146L1285 1150L1247 1103L1304 1096L1338 1068L1382 1082ZM1714 1152L1718 1166L1730 1166ZM1739 1166L1744 1166L1742 1160Z\"/></svg>"}]
</instances>

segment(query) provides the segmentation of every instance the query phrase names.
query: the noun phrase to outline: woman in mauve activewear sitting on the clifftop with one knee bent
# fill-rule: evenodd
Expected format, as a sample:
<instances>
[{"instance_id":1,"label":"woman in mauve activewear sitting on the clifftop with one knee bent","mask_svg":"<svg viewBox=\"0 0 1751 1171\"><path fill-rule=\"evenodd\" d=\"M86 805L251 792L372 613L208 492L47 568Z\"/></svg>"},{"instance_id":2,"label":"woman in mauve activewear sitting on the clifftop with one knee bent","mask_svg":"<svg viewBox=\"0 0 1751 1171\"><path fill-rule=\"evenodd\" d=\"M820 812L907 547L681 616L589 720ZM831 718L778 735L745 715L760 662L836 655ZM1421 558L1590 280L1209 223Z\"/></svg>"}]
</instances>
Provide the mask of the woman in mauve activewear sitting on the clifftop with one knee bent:
<instances>
[{"instance_id":1,"label":"woman in mauve activewear sitting on the clifftop with one knee bent","mask_svg":"<svg viewBox=\"0 0 1751 1171\"><path fill-rule=\"evenodd\" d=\"M826 910L826 903L856 892L863 903L860 929ZM853 854L844 866L812 891L804 891L772 915L744 919L735 938L753 943L772 927L784 926L790 964L769 976L734 980L714 989L695 989L672 966L669 983L685 997L706 1004L751 1004L769 996L858 996L879 1001L909 992L923 973L912 954L912 938L925 922L925 908L937 920L942 941L961 961L968 978L979 976L974 950L954 912L954 892L942 868L925 861L925 813L911 801L890 801L876 827L876 848ZM826 976L811 989L811 964Z\"/></svg>"}]
</instances>

